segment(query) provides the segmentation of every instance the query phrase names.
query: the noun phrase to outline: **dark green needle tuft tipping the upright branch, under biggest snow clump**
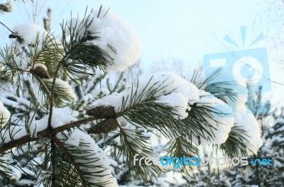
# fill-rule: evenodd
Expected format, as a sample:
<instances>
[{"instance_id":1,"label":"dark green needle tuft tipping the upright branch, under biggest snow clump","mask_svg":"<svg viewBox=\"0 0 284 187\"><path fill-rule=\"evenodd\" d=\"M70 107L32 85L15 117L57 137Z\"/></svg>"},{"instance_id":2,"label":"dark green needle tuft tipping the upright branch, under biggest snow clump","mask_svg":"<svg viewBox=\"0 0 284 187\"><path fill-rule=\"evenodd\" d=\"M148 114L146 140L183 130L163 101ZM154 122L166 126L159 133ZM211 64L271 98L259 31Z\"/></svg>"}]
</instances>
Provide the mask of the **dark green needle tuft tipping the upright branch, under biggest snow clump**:
<instances>
[{"instance_id":1,"label":"dark green needle tuft tipping the upright branch, under biggest snow clump","mask_svg":"<svg viewBox=\"0 0 284 187\"><path fill-rule=\"evenodd\" d=\"M92 13L92 11L91 11ZM65 62L62 62L62 67L67 76L75 82L80 84L77 79L89 79L89 76L93 76L89 70L106 69L109 65L113 64L111 56L98 45L94 45L92 40L96 40L99 36L94 36L94 33L89 31L93 19L91 19L91 13L87 15L87 10L84 18L80 23L62 23L62 47L67 54ZM75 25L75 26L74 26ZM70 36L66 35L66 31L69 31ZM83 35L81 34L83 33ZM68 38L68 39L67 39ZM108 47L115 52L115 50L108 45Z\"/></svg>"}]
</instances>

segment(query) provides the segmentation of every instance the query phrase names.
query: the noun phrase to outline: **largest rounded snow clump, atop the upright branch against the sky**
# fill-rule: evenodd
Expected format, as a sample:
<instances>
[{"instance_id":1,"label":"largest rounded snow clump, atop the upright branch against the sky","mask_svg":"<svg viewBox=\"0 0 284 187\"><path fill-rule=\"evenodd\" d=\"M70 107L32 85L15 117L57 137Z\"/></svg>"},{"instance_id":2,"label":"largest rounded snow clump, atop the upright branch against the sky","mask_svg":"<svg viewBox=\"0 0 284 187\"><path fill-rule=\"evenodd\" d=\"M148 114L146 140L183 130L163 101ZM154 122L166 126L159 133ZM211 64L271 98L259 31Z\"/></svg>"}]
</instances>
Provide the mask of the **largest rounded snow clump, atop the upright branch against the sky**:
<instances>
[{"instance_id":1,"label":"largest rounded snow clump, atop the upright branch against the sky","mask_svg":"<svg viewBox=\"0 0 284 187\"><path fill-rule=\"evenodd\" d=\"M99 18L97 18L98 12L99 10L95 10L90 17L90 20L92 18L94 18L94 20L89 26L88 31L93 33L93 36L99 38L87 41L86 43L99 46L114 59L114 64L107 67L107 71L121 72L126 67L134 64L140 57L140 41L135 31L114 13L111 11L107 12L107 9L103 8ZM104 16L106 12L107 14ZM68 22L68 25L71 27L71 33L77 31L81 21L82 19L80 18L78 21L77 18L72 18ZM84 35L84 31L84 29L79 31L78 35L80 38ZM67 34L70 34L70 30L67 30ZM108 45L111 45L116 52L111 50Z\"/></svg>"}]
</instances>

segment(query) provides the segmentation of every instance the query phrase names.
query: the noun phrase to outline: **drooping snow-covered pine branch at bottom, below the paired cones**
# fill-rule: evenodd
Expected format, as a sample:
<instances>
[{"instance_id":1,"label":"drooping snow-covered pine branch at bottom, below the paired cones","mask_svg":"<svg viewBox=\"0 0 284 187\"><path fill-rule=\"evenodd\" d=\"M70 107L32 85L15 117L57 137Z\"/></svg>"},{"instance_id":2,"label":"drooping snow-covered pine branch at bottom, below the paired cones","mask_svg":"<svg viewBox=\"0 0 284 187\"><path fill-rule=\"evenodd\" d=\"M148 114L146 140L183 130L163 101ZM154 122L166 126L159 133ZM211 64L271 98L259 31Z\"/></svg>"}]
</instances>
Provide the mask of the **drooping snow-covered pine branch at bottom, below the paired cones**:
<instances>
[{"instance_id":1,"label":"drooping snow-covered pine branch at bottom, below the paired cones","mask_svg":"<svg viewBox=\"0 0 284 187\"><path fill-rule=\"evenodd\" d=\"M72 133L80 132L79 145L69 145L68 140ZM104 163L107 159L94 144L94 140L84 132L75 129L65 131L53 137L50 160L50 168L45 174L43 183L52 186L105 186L111 183L111 171L109 165ZM64 163L64 164L62 164ZM68 180L65 180L68 177Z\"/></svg>"}]
</instances>

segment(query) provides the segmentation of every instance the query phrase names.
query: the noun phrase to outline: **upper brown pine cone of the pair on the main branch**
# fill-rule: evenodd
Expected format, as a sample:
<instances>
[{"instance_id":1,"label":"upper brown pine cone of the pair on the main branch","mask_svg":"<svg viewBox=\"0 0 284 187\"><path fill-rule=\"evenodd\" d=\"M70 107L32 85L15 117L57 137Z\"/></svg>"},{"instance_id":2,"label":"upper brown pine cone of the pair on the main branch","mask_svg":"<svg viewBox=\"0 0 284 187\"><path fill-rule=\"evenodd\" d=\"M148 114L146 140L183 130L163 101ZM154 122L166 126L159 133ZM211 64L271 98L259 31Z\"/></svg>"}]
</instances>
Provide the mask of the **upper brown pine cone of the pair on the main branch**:
<instances>
[{"instance_id":1,"label":"upper brown pine cone of the pair on the main branch","mask_svg":"<svg viewBox=\"0 0 284 187\"><path fill-rule=\"evenodd\" d=\"M99 118L111 118L114 117L115 111L113 106L97 106L95 108L90 108L86 114Z\"/></svg>"}]
</instances>

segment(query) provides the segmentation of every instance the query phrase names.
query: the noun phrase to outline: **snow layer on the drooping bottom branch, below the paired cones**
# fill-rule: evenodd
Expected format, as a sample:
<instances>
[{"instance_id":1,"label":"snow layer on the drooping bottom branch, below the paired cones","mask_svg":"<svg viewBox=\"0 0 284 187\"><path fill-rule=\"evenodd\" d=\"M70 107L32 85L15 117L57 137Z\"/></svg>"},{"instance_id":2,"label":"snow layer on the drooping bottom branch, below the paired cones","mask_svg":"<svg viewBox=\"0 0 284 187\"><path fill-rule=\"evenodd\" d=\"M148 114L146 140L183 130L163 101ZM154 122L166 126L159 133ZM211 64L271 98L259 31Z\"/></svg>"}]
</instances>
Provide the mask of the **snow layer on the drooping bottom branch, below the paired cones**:
<instances>
[{"instance_id":1,"label":"snow layer on the drooping bottom branch, below the paired cones","mask_svg":"<svg viewBox=\"0 0 284 187\"><path fill-rule=\"evenodd\" d=\"M84 149L87 150L85 153L81 153L80 157L84 159L75 159L77 163L85 163L86 159L88 160L88 166L80 165L80 169L84 172L90 172L91 174L84 174L85 180L90 183L106 183L104 186L114 187L118 186L116 179L111 174L110 165L111 162L104 150L102 150L96 142L88 134L82 132L79 129L72 130L72 133L68 135L68 140L65 142L65 145L73 145L74 149ZM59 139L65 139L63 135L57 135ZM69 147L70 149L70 147ZM70 152L71 155L77 157L77 152Z\"/></svg>"}]
</instances>

